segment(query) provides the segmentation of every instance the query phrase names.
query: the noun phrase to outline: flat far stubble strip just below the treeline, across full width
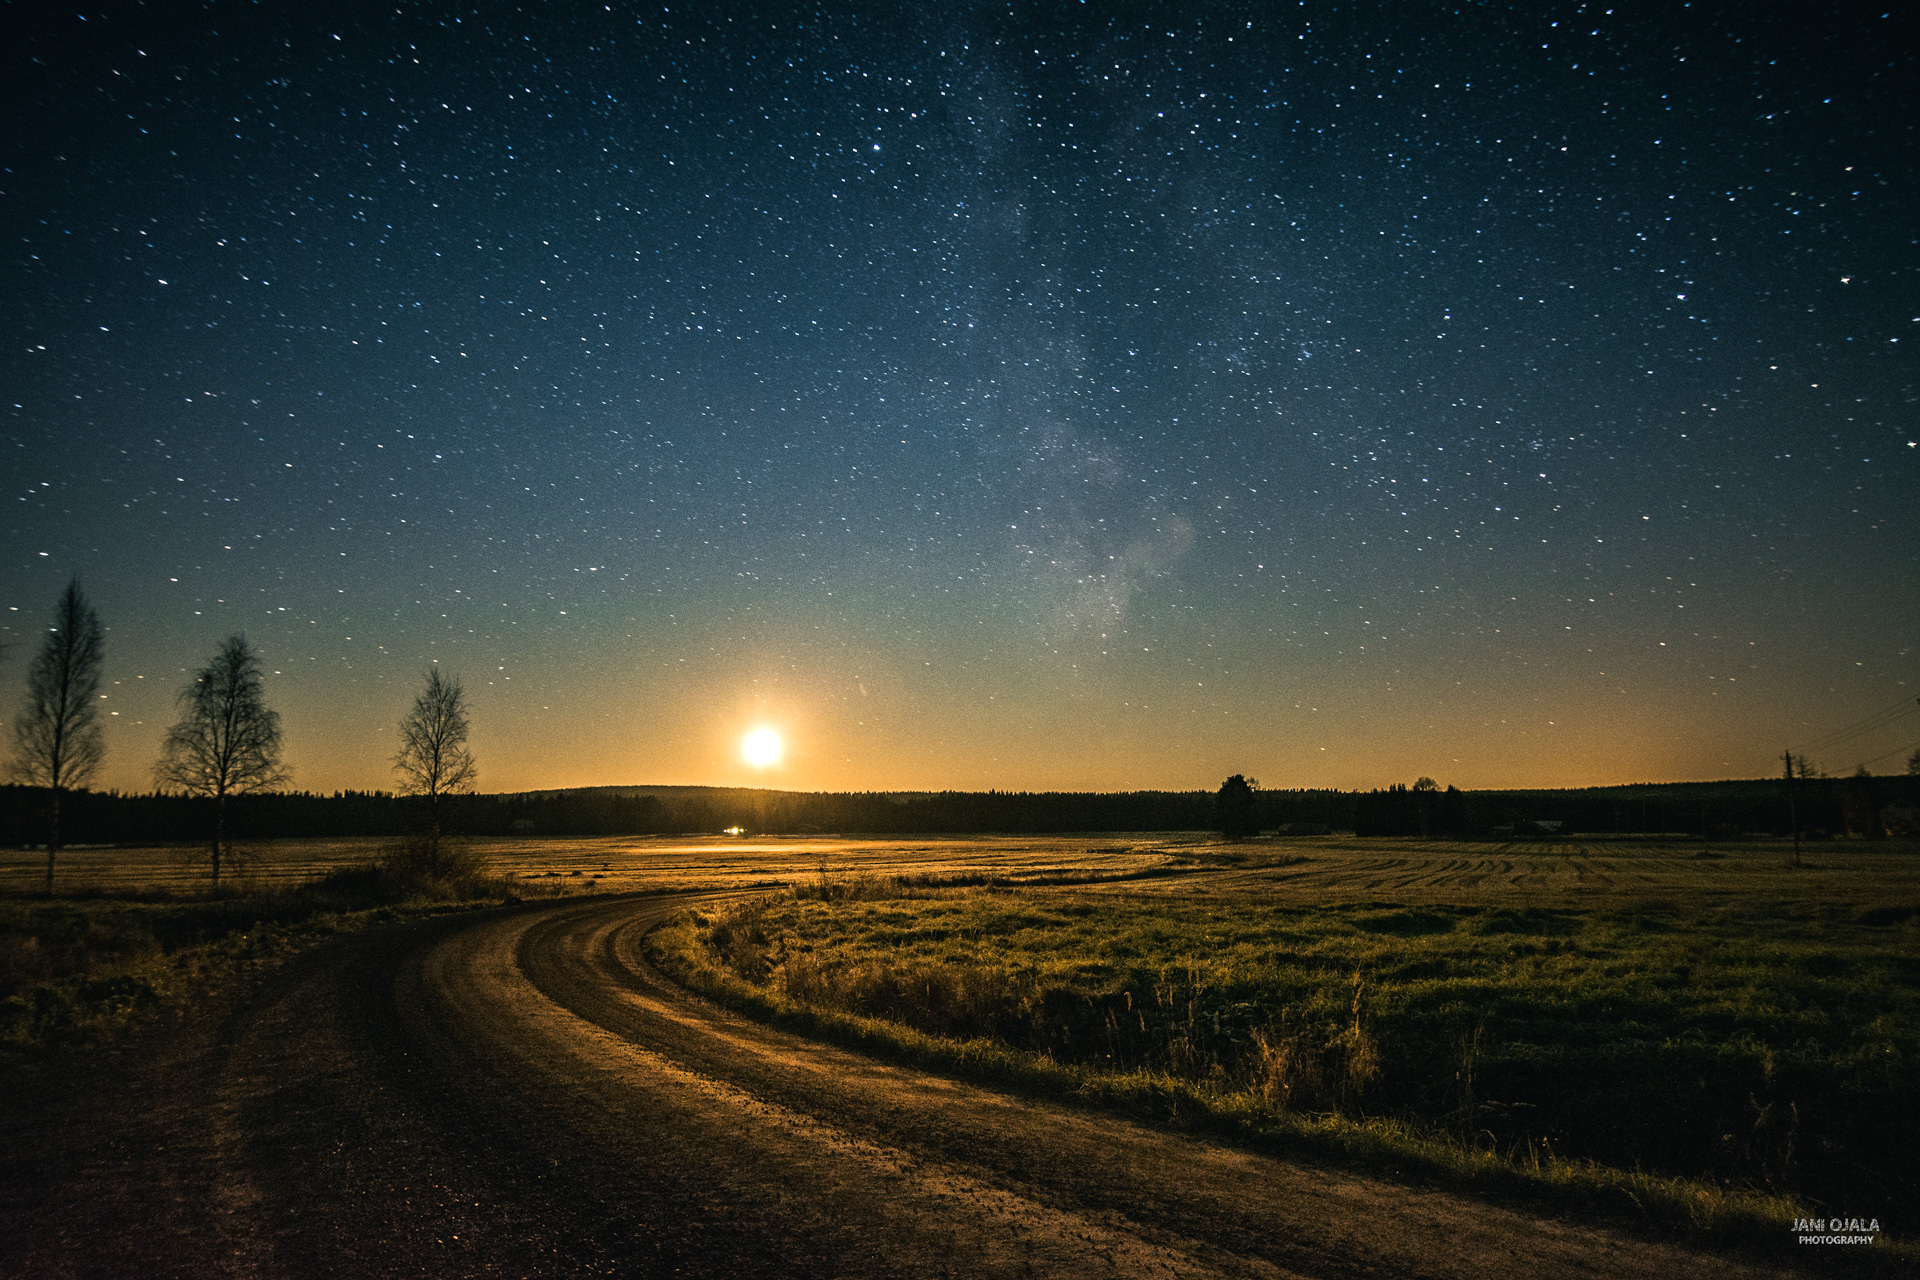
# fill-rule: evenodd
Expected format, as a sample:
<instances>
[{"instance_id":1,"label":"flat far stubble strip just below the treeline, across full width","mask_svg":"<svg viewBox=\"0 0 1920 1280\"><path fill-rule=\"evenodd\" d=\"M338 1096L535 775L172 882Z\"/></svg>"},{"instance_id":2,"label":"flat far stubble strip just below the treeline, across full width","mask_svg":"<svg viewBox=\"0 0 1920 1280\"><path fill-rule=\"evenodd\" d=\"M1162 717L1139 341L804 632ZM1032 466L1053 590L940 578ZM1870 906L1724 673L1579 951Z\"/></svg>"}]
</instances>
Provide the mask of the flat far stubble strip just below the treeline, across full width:
<instances>
[{"instance_id":1,"label":"flat far stubble strip just below the treeline, across full width","mask_svg":"<svg viewBox=\"0 0 1920 1280\"><path fill-rule=\"evenodd\" d=\"M1788 867L1786 841L1701 842L1688 837L1571 841L1417 841L1286 837L1221 844L1204 833L1069 837L541 837L476 839L492 875L582 881L580 889L634 892L753 887L837 875L1062 877L1129 875L1125 892L1212 894L1258 902L1400 902L1476 906L1920 904L1920 844L1834 841L1805 844ZM259 841L228 850L238 887L284 889L380 858L376 837ZM0 896L33 894L46 854L0 850ZM205 850L194 846L69 846L60 892L196 894Z\"/></svg>"}]
</instances>

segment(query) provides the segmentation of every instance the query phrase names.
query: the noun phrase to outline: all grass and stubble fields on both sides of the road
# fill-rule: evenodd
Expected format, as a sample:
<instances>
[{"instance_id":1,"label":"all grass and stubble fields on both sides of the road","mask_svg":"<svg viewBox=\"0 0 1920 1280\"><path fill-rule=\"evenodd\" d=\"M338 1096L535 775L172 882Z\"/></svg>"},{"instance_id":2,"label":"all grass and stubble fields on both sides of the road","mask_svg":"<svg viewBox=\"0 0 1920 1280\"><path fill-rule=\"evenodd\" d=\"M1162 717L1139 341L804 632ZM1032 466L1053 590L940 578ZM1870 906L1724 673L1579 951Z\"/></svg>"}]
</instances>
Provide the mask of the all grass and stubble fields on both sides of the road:
<instances>
[{"instance_id":1,"label":"all grass and stubble fields on both sides of the road","mask_svg":"<svg viewBox=\"0 0 1920 1280\"><path fill-rule=\"evenodd\" d=\"M1912 844L1812 844L1799 867L1784 842L1632 837L467 848L470 883L422 890L372 873L382 841L253 844L221 898L198 850L65 850L52 902L44 854L0 852L0 1040L98 1040L463 898L730 889L655 936L662 963L924 1065L1695 1224L1920 1221Z\"/></svg>"}]
</instances>

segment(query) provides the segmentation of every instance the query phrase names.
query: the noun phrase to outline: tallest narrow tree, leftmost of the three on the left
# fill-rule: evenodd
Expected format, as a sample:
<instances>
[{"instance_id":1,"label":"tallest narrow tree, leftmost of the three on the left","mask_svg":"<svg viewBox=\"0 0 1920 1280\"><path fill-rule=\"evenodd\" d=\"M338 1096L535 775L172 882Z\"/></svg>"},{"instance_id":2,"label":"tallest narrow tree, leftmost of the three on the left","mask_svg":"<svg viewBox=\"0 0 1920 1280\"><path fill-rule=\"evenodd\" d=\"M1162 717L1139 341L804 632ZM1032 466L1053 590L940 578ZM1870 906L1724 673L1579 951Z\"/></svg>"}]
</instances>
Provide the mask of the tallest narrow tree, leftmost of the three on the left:
<instances>
[{"instance_id":1,"label":"tallest narrow tree, leftmost of the three on the left","mask_svg":"<svg viewBox=\"0 0 1920 1280\"><path fill-rule=\"evenodd\" d=\"M54 608L40 652L27 670L27 700L13 722L12 775L48 791L46 896L54 896L60 856L60 796L84 787L106 758L100 733L100 664L106 658L100 616L75 578Z\"/></svg>"}]
</instances>

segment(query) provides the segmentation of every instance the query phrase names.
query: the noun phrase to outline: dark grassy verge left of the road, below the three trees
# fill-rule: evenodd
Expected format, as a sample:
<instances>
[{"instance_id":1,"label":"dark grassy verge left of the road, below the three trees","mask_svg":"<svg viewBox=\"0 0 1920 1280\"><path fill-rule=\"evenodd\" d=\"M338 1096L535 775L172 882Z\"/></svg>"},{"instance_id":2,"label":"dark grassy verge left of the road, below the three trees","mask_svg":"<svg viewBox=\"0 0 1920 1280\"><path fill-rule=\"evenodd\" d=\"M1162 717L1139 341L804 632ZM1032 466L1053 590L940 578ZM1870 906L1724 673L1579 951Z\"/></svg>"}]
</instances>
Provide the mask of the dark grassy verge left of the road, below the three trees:
<instances>
[{"instance_id":1,"label":"dark grassy verge left of the road, below the three trees","mask_svg":"<svg viewBox=\"0 0 1920 1280\"><path fill-rule=\"evenodd\" d=\"M457 850L434 869L407 852L271 892L0 898L0 1061L115 1044L340 933L551 896L484 875Z\"/></svg>"}]
</instances>

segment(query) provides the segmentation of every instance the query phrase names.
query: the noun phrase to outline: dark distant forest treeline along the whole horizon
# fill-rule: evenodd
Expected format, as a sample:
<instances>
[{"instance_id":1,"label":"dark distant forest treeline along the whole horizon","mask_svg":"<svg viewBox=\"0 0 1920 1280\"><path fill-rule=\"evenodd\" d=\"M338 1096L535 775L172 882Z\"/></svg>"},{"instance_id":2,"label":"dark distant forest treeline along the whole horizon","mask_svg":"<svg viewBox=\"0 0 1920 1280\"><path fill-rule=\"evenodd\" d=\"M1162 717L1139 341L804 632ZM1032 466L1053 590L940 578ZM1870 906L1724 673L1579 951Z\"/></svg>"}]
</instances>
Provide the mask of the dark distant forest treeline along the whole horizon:
<instances>
[{"instance_id":1,"label":"dark distant forest treeline along the whole horizon","mask_svg":"<svg viewBox=\"0 0 1920 1280\"><path fill-rule=\"evenodd\" d=\"M1832 777L1793 783L1807 835L1912 833L1920 777ZM77 791L61 800L67 844L175 844L205 839L211 800L180 794ZM1363 837L1686 833L1705 839L1788 835L1786 783L1647 783L1578 791L1260 791L1265 831L1352 831ZM384 791L278 793L228 800L234 839L397 837L422 802ZM751 833L1066 833L1210 831L1210 791L801 793L724 787L588 787L442 800L442 821L467 835ZM0 841L46 839L46 791L0 787Z\"/></svg>"}]
</instances>

